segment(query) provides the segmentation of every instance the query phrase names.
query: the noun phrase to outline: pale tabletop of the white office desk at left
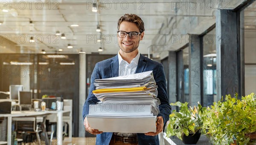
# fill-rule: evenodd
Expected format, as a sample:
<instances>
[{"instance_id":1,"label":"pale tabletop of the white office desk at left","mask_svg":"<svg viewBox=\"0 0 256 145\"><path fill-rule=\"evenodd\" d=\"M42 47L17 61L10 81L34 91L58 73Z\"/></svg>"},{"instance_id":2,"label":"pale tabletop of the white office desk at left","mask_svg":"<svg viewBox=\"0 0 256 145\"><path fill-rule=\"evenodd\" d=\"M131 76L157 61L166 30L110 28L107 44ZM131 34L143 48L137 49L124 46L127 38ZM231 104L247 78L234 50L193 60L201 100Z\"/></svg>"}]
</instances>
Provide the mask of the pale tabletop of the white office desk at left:
<instances>
[{"instance_id":1,"label":"pale tabletop of the white office desk at left","mask_svg":"<svg viewBox=\"0 0 256 145\"><path fill-rule=\"evenodd\" d=\"M11 114L0 114L0 117L25 117L25 116L39 116L44 114L57 114L58 112L66 113L69 110L62 111L12 111Z\"/></svg>"}]
</instances>

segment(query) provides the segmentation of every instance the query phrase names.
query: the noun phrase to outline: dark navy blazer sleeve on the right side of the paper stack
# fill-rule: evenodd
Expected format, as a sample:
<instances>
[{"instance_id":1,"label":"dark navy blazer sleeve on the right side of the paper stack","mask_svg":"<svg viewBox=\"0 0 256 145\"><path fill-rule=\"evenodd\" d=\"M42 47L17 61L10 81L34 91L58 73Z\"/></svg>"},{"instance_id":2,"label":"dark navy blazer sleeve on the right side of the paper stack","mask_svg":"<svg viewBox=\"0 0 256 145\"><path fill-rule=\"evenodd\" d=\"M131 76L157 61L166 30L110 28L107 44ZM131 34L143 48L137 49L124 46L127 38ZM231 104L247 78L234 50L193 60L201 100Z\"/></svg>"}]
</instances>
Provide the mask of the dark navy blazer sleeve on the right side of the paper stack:
<instances>
[{"instance_id":1,"label":"dark navy blazer sleeve on the right side of the paper stack","mask_svg":"<svg viewBox=\"0 0 256 145\"><path fill-rule=\"evenodd\" d=\"M163 131L165 129L166 122L169 120L169 115L171 114L171 106L169 105L167 89L166 89L166 77L163 71L163 65L159 64L157 69L157 75L155 77L157 83L157 98L159 98L161 104L159 105L160 113L157 116L163 117Z\"/></svg>"}]
</instances>

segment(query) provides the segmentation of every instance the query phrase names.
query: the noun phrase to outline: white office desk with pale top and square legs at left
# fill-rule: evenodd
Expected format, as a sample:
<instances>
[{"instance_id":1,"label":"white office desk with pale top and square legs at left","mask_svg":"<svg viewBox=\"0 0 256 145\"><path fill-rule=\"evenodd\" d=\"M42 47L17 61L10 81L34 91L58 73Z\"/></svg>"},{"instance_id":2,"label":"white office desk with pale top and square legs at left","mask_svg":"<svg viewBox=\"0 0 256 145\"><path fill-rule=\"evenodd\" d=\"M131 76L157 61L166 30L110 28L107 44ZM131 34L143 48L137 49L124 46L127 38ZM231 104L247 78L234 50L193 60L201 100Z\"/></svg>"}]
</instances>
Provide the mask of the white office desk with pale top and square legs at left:
<instances>
[{"instance_id":1,"label":"white office desk with pale top and square legs at left","mask_svg":"<svg viewBox=\"0 0 256 145\"><path fill-rule=\"evenodd\" d=\"M68 110L62 111L12 111L11 114L0 114L0 117L7 117L7 142L11 145L12 137L12 117L32 117L32 116L42 116L47 114L57 114L57 144L62 145L62 132L63 123L62 115L63 113L70 112Z\"/></svg>"}]
</instances>

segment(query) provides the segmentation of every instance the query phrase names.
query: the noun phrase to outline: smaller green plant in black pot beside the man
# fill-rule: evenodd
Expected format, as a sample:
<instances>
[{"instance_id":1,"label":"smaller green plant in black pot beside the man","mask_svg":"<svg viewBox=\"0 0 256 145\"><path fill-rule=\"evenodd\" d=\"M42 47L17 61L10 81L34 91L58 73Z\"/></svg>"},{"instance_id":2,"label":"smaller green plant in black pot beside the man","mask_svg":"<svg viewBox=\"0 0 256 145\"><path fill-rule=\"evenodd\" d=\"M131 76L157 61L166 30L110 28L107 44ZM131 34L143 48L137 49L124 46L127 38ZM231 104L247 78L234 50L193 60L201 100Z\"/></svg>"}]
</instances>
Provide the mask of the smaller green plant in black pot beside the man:
<instances>
[{"instance_id":1,"label":"smaller green plant in black pot beside the man","mask_svg":"<svg viewBox=\"0 0 256 145\"><path fill-rule=\"evenodd\" d=\"M187 102L176 102L170 105L180 107L180 111L176 112L174 110L170 114L166 131L167 137L176 135L185 144L196 144L206 119L206 108L202 107L199 102L198 106L193 108L191 106L188 107Z\"/></svg>"}]
</instances>

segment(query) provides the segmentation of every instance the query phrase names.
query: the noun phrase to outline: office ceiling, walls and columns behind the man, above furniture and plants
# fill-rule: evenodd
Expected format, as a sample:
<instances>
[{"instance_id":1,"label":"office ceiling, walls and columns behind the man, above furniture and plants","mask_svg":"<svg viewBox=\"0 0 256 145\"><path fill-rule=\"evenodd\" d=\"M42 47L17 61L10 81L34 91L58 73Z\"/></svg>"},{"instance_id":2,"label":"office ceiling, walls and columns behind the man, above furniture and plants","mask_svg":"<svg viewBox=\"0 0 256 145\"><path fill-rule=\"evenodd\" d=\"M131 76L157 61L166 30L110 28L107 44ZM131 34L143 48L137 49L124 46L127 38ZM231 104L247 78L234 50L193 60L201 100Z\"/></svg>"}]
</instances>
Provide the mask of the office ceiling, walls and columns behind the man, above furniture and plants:
<instances>
[{"instance_id":1,"label":"office ceiling, walls and columns behind the man, above furniture and plants","mask_svg":"<svg viewBox=\"0 0 256 145\"><path fill-rule=\"evenodd\" d=\"M209 106L225 94L256 92L255 0L1 0L0 5L0 91L23 85L33 99L72 99L73 137L85 137L81 112L90 76L96 62L118 53L117 20L126 13L145 23L139 51L163 64L170 103Z\"/></svg>"}]
</instances>

